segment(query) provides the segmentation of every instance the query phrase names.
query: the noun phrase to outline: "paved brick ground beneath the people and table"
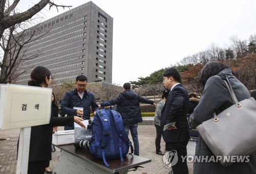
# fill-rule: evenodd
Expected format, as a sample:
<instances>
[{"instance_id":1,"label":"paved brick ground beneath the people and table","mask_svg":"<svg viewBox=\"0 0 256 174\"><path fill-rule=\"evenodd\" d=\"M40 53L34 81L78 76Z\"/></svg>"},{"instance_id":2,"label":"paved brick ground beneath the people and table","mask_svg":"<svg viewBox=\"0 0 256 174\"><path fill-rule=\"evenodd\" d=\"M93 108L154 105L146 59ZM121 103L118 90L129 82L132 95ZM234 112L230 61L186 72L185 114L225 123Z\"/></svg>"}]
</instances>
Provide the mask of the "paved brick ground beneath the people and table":
<instances>
[{"instance_id":1,"label":"paved brick ground beneath the people and table","mask_svg":"<svg viewBox=\"0 0 256 174\"><path fill-rule=\"evenodd\" d=\"M63 127L59 127L58 130L63 130ZM170 168L166 168L162 157L155 153L155 135L156 130L153 125L139 125L138 127L139 143L140 143L140 156L151 159L152 162L142 165L144 168L139 168L136 171L130 171L130 174L141 173L161 173L165 174L170 171ZM19 129L13 130L0 130L0 173L16 173L16 157L17 157L17 141L19 136ZM8 140L1 141L4 138ZM130 136L132 140L132 137ZM164 141L161 142L162 151L164 151ZM189 147L188 147L189 148ZM52 161L50 162L50 168L54 170L57 162L57 157L60 150L56 148L56 152L52 153ZM193 152L192 152L193 153ZM193 173L193 163L187 163L189 174Z\"/></svg>"}]
</instances>

